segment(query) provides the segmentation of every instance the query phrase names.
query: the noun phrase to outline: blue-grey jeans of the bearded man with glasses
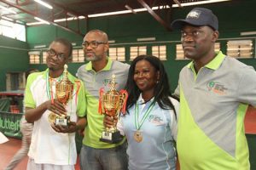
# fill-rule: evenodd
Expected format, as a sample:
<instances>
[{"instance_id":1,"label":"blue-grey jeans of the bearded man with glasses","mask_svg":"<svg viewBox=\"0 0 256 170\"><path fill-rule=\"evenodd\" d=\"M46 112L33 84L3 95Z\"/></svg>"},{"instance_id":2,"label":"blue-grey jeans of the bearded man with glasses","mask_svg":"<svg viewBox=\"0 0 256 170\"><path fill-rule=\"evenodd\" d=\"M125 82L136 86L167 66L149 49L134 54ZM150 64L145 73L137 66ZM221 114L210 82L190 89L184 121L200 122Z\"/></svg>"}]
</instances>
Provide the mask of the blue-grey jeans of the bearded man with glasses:
<instances>
[{"instance_id":1,"label":"blue-grey jeans of the bearded man with glasses","mask_svg":"<svg viewBox=\"0 0 256 170\"><path fill-rule=\"evenodd\" d=\"M81 170L126 170L127 162L126 143L109 149L83 145L80 152Z\"/></svg>"}]
</instances>

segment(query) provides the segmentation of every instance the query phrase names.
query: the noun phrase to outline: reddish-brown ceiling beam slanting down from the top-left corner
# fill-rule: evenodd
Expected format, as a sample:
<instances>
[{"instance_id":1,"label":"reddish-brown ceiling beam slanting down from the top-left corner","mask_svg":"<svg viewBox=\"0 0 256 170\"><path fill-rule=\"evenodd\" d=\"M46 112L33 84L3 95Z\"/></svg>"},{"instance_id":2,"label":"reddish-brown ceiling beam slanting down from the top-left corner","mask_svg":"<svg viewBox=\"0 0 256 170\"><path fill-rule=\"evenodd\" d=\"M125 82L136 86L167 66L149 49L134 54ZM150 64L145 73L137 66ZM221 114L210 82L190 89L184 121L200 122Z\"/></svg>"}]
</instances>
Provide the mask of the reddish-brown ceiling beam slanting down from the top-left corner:
<instances>
[{"instance_id":1,"label":"reddish-brown ceiling beam slanting down from the top-left corner","mask_svg":"<svg viewBox=\"0 0 256 170\"><path fill-rule=\"evenodd\" d=\"M32 16L34 16L34 17L42 18L41 16L38 16L38 14L34 14L34 13L30 12L30 11L27 11L27 10L24 9L24 8L20 8L20 6L14 4L14 3L9 3L8 1L5 1L5 0L0 0L0 2L6 3L6 4L8 4L8 5L11 6L11 7L18 8L20 11L22 11L22 12L24 12L24 13L26 13L26 14L30 14L30 15L32 15ZM42 19L43 19L43 18L42 18ZM45 20L45 19L43 19L43 20ZM66 31L70 31L70 32L73 32L73 33L75 33L75 34L78 34L79 36L84 37L84 34L82 34L80 31L74 31L73 29L68 28L67 26L61 26L61 25L55 23L53 20L46 20L46 21L48 21L50 24L52 24L52 25L54 25L54 26L58 26L58 27L60 27L60 28L62 28L62 29L64 29L64 30L66 30Z\"/></svg>"}]
</instances>

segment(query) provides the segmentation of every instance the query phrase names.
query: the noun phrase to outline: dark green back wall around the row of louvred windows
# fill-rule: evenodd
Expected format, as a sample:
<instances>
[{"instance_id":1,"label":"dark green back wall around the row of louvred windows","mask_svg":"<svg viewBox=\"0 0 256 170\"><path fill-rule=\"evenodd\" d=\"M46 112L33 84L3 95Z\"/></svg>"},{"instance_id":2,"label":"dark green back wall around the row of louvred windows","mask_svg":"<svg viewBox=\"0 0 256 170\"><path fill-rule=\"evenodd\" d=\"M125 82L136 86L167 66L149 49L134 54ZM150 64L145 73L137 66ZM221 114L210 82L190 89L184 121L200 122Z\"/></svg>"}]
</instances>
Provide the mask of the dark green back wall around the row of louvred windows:
<instances>
[{"instance_id":1,"label":"dark green back wall around the row of louvred windows","mask_svg":"<svg viewBox=\"0 0 256 170\"><path fill-rule=\"evenodd\" d=\"M256 1L238 1L231 3L223 3L217 6L216 3L203 5L200 7L211 8L212 11L218 15L219 19L219 38L240 37L241 31L255 31L256 18L254 15L254 8ZM184 18L189 10L194 7L173 8L172 19ZM239 12L238 12L239 11ZM148 13L125 14L122 16L108 16L101 18L93 18L88 20L88 25L85 25L85 20L80 21L80 28L85 34L87 29L101 29L108 33L110 40L115 40L119 43L136 43L137 37L156 37L156 42L169 41L167 45L167 61L164 61L166 70L169 73L172 91L177 86L178 72L186 65L189 60L175 60L175 44L180 40L179 31L166 31L154 18ZM83 37L64 31L55 26L34 26L27 30L27 40L30 48L37 44L48 44L55 37L67 37L71 42L81 44ZM226 41L219 41L222 43L222 50L226 51ZM150 44L151 45L151 44ZM116 45L115 45L116 46ZM117 45L125 46L126 51L131 45ZM127 52L127 54L129 54ZM247 65L253 65L256 68L255 59L241 59ZM127 59L127 62L129 60ZM73 74L82 64L70 64L69 71ZM30 65L42 70L45 65Z\"/></svg>"}]
</instances>

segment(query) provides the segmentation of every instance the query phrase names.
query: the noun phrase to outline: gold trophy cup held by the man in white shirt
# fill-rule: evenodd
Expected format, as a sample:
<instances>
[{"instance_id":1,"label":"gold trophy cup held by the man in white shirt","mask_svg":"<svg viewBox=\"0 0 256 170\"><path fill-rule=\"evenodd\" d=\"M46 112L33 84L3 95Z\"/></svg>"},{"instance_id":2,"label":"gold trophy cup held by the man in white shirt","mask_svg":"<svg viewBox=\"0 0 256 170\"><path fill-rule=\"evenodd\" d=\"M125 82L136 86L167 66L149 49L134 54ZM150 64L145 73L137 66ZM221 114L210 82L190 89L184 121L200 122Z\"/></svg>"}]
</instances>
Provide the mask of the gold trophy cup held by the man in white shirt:
<instances>
[{"instance_id":1,"label":"gold trophy cup held by the man in white shirt","mask_svg":"<svg viewBox=\"0 0 256 170\"><path fill-rule=\"evenodd\" d=\"M67 105L69 99L73 96L73 83L68 80L67 77L67 65L64 65L63 78L61 82L56 82L55 86L55 99L61 102L63 105ZM70 116L67 114L57 115L54 112L50 112L48 116L49 122L55 122L56 125L68 126L70 122Z\"/></svg>"}]
</instances>

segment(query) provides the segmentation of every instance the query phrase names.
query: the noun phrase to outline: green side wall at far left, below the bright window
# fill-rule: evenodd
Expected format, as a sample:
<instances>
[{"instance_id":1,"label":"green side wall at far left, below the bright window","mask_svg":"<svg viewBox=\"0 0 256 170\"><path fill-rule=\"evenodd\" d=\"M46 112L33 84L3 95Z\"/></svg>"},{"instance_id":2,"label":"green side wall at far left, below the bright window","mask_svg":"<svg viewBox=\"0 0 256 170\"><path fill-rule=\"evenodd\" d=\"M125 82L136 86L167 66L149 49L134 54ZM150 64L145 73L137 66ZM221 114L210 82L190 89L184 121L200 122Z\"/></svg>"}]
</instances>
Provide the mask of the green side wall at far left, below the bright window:
<instances>
[{"instance_id":1,"label":"green side wall at far left, below the bright window","mask_svg":"<svg viewBox=\"0 0 256 170\"><path fill-rule=\"evenodd\" d=\"M0 91L5 91L7 72L26 71L29 67L28 44L9 37L0 36Z\"/></svg>"}]
</instances>

